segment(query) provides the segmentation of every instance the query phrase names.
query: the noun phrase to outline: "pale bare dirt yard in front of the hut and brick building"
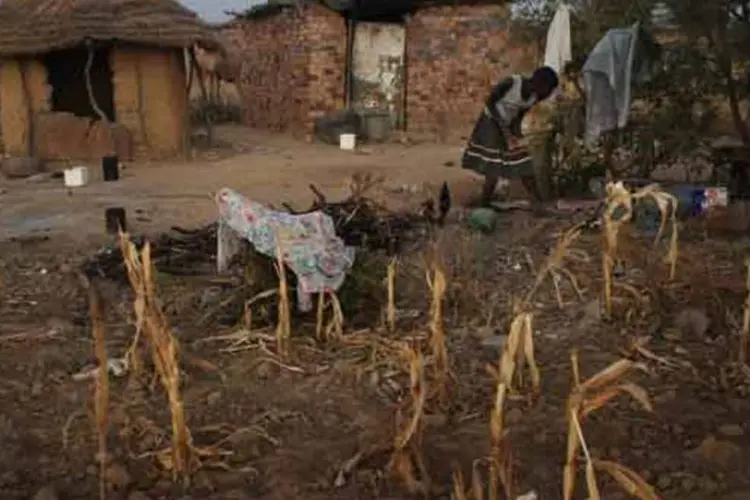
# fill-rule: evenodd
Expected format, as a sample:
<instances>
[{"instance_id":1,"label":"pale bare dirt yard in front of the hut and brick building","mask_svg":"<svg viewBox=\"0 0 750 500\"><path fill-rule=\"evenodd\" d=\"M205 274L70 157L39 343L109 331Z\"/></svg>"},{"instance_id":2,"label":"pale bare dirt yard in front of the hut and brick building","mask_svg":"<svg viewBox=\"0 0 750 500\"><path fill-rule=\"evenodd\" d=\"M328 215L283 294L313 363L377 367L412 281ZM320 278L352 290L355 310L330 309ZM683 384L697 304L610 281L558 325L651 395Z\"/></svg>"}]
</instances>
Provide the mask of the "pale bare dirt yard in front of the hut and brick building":
<instances>
[{"instance_id":1,"label":"pale bare dirt yard in front of the hut and brick building","mask_svg":"<svg viewBox=\"0 0 750 500\"><path fill-rule=\"evenodd\" d=\"M242 153L222 158L224 150L191 161L127 165L115 183L101 182L93 166L91 183L75 190L64 188L59 179L6 182L0 186L0 240L39 232L96 238L102 235L104 209L110 206L125 207L136 232L197 226L214 217L210 194L221 187L261 202L286 201L301 208L312 200L309 183L331 197L343 196L355 173L385 176L385 187L392 192L418 187L419 201L427 196L421 188L439 187L443 181L459 196L478 189L477 179L455 166L457 146L390 144L350 153L238 127L220 129L219 138ZM416 201L415 193L401 198Z\"/></svg>"}]
</instances>

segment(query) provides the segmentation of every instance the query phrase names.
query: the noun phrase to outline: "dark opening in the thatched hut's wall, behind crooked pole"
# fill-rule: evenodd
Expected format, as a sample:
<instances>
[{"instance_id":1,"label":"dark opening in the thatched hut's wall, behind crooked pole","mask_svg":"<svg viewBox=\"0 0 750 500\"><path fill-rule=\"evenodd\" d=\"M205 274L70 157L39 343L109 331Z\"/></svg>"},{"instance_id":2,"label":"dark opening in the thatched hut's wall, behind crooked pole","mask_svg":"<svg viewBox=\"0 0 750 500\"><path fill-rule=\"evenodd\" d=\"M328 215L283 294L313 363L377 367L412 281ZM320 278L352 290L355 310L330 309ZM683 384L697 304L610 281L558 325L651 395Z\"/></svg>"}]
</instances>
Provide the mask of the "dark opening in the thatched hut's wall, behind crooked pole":
<instances>
[{"instance_id":1,"label":"dark opening in the thatched hut's wall, behind crooked pole","mask_svg":"<svg viewBox=\"0 0 750 500\"><path fill-rule=\"evenodd\" d=\"M82 118L99 119L86 89L86 61L88 49L73 49L50 52L44 57L47 79L52 87L52 111L73 113ZM115 121L115 99L110 67L110 50L94 51L91 65L91 88L96 104L110 121Z\"/></svg>"}]
</instances>

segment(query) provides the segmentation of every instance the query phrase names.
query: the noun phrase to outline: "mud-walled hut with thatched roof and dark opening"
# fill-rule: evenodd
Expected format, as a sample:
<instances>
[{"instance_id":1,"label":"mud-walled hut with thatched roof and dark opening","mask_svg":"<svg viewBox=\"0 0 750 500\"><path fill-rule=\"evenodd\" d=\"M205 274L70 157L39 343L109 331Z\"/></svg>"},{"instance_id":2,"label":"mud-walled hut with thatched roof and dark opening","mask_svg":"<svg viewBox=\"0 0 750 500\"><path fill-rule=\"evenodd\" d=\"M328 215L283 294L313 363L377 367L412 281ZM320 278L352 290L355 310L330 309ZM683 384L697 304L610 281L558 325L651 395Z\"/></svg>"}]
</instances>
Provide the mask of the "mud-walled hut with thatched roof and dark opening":
<instances>
[{"instance_id":1,"label":"mud-walled hut with thatched roof and dark opening","mask_svg":"<svg viewBox=\"0 0 750 500\"><path fill-rule=\"evenodd\" d=\"M174 0L3 0L5 153L46 161L179 156L184 51L213 38Z\"/></svg>"}]
</instances>

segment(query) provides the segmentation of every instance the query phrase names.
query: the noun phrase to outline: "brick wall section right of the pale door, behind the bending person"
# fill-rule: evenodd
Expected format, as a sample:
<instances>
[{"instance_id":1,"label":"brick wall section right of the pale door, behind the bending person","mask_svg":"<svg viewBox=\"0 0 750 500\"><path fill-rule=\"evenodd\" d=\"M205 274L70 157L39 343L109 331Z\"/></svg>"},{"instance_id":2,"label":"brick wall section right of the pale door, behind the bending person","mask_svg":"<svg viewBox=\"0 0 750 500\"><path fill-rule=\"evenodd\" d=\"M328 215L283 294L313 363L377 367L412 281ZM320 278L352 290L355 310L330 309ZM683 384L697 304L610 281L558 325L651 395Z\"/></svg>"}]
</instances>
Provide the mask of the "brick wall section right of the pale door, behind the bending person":
<instances>
[{"instance_id":1,"label":"brick wall section right of the pale door, behind the bending person","mask_svg":"<svg viewBox=\"0 0 750 500\"><path fill-rule=\"evenodd\" d=\"M409 133L440 140L468 136L492 86L536 63L530 49L512 46L505 6L417 11L406 28Z\"/></svg>"}]
</instances>

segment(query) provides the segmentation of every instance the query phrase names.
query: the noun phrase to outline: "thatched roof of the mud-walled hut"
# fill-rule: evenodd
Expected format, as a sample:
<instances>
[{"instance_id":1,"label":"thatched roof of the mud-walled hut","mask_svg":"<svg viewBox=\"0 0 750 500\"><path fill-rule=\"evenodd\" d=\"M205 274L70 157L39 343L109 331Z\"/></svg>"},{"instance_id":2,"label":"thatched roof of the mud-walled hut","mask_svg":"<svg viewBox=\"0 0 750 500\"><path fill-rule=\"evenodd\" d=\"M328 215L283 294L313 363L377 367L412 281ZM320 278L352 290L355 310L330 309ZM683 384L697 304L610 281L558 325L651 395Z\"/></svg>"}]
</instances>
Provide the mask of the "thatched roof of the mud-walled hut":
<instances>
[{"instance_id":1,"label":"thatched roof of the mud-walled hut","mask_svg":"<svg viewBox=\"0 0 750 500\"><path fill-rule=\"evenodd\" d=\"M207 25L176 0L0 1L0 57L69 48L86 39L215 45Z\"/></svg>"}]
</instances>

